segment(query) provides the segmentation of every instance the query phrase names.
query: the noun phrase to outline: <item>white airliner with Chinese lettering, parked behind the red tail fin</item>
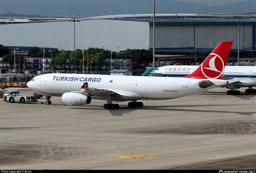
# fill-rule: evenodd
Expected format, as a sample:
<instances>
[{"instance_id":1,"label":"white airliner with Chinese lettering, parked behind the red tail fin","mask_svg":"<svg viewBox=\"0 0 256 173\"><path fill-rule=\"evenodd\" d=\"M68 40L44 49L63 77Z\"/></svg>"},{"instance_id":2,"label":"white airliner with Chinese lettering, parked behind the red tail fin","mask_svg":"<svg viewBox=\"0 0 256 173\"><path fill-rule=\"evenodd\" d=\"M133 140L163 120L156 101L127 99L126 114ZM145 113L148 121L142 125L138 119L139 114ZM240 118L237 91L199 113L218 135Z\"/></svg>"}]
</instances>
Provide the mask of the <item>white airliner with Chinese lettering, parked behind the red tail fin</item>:
<instances>
[{"instance_id":1,"label":"white airliner with Chinese lettering, parked behind the red tail fin","mask_svg":"<svg viewBox=\"0 0 256 173\"><path fill-rule=\"evenodd\" d=\"M150 75L153 77L185 77L194 72L198 67L199 66L190 65L163 66L154 68ZM214 67L212 70L216 71ZM256 86L256 66L226 66L223 72L223 78L221 79L241 79L225 86L230 89L227 91L227 94L240 94L239 90L235 90L240 87L248 87L248 89L245 90L246 93L256 93L256 89L252 88Z\"/></svg>"}]
</instances>

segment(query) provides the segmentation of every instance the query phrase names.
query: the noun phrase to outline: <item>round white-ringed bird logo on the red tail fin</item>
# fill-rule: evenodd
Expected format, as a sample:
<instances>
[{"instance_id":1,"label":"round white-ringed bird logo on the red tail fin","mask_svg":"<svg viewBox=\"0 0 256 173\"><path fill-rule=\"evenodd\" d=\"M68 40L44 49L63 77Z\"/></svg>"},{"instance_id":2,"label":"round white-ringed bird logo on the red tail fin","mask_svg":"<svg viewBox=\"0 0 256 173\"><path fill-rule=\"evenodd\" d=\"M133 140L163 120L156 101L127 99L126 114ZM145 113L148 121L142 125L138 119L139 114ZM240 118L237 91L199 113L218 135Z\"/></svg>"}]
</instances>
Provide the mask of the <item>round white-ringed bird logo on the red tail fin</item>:
<instances>
[{"instance_id":1,"label":"round white-ringed bird logo on the red tail fin","mask_svg":"<svg viewBox=\"0 0 256 173\"><path fill-rule=\"evenodd\" d=\"M222 75L224 68L225 65L223 59L215 53L211 53L203 64L201 64L201 71L208 79L219 78Z\"/></svg>"}]
</instances>

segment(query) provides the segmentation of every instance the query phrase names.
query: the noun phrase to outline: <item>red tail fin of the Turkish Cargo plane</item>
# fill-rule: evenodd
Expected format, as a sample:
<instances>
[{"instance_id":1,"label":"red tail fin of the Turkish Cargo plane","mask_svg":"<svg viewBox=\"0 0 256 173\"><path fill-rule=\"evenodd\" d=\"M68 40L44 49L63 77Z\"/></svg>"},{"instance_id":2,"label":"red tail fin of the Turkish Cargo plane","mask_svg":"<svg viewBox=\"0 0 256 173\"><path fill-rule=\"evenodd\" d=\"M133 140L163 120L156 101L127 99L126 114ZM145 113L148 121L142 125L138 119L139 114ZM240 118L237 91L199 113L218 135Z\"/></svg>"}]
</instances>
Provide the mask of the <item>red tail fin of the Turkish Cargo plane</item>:
<instances>
[{"instance_id":1,"label":"red tail fin of the Turkish Cargo plane","mask_svg":"<svg viewBox=\"0 0 256 173\"><path fill-rule=\"evenodd\" d=\"M233 41L220 41L212 53L204 60L196 71L184 78L220 79L222 77L228 54Z\"/></svg>"}]
</instances>

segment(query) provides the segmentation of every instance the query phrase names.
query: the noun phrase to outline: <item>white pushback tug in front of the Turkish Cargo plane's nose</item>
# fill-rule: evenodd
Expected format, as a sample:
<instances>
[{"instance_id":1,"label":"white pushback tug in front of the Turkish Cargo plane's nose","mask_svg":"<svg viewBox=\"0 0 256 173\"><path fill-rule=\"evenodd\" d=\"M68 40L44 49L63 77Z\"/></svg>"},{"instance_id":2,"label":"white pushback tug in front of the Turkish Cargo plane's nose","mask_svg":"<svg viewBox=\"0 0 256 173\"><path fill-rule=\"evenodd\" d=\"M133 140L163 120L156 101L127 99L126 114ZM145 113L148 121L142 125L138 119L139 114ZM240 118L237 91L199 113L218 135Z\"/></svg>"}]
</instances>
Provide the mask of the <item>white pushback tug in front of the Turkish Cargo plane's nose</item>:
<instances>
[{"instance_id":1,"label":"white pushback tug in front of the Turkish Cargo plane's nose","mask_svg":"<svg viewBox=\"0 0 256 173\"><path fill-rule=\"evenodd\" d=\"M3 98L4 101L10 103L32 103L37 102L37 98L35 96L24 96L24 95L5 95Z\"/></svg>"}]
</instances>

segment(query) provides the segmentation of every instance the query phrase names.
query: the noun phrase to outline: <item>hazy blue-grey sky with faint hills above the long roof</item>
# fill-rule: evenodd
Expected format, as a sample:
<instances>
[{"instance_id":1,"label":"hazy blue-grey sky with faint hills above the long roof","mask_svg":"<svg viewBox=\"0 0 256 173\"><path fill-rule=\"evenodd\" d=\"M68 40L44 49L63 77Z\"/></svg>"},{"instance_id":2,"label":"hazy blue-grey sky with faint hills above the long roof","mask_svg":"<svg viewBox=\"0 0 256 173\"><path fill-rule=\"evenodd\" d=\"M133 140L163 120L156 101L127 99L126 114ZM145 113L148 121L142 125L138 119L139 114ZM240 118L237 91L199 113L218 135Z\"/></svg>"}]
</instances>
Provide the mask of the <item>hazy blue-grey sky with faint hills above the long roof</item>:
<instances>
[{"instance_id":1,"label":"hazy blue-grey sky with faint hills above the long roof","mask_svg":"<svg viewBox=\"0 0 256 173\"><path fill-rule=\"evenodd\" d=\"M0 13L87 17L152 13L153 0L0 0ZM256 0L156 0L156 12L204 13L256 11Z\"/></svg>"}]
</instances>

